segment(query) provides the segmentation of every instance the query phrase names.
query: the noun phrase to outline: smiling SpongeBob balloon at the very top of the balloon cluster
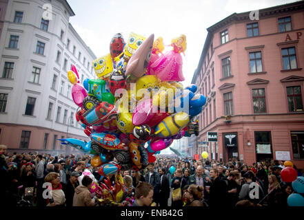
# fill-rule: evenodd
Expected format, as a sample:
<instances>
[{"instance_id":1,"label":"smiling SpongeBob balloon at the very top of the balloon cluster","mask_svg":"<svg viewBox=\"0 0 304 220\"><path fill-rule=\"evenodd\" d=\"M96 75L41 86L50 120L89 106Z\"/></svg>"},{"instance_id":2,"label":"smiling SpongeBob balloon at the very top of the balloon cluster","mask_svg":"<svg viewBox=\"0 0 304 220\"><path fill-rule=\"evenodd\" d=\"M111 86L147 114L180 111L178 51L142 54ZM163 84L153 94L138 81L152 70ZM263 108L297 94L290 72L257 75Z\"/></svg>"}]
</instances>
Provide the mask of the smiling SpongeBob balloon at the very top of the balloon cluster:
<instances>
[{"instance_id":1,"label":"smiling SpongeBob balloon at the very top of the balloon cluster","mask_svg":"<svg viewBox=\"0 0 304 220\"><path fill-rule=\"evenodd\" d=\"M135 34L131 32L128 43L125 45L123 49L123 58L125 62L128 62L131 56L135 53L137 48L145 41L145 36L141 36L139 34Z\"/></svg>"}]
</instances>

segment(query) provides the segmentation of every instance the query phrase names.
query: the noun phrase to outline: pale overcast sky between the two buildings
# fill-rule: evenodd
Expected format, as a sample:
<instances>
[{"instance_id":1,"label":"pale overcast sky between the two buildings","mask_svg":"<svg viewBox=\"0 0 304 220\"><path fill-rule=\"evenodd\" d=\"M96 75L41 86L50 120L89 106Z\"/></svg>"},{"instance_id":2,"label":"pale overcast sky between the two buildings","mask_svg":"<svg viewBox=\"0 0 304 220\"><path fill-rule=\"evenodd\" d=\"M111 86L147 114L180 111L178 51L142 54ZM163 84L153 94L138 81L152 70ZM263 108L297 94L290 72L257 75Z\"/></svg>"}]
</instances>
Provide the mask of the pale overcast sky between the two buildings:
<instances>
[{"instance_id":1,"label":"pale overcast sky between the two buildings","mask_svg":"<svg viewBox=\"0 0 304 220\"><path fill-rule=\"evenodd\" d=\"M155 38L165 44L185 34L187 50L183 56L183 85L189 85L199 63L206 28L234 12L248 12L294 2L295 0L68 0L74 13L74 29L97 57L110 52L116 33L127 42L130 32ZM170 47L167 48L170 50Z\"/></svg>"}]
</instances>

